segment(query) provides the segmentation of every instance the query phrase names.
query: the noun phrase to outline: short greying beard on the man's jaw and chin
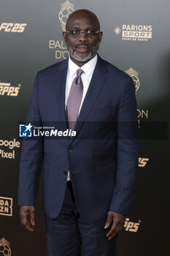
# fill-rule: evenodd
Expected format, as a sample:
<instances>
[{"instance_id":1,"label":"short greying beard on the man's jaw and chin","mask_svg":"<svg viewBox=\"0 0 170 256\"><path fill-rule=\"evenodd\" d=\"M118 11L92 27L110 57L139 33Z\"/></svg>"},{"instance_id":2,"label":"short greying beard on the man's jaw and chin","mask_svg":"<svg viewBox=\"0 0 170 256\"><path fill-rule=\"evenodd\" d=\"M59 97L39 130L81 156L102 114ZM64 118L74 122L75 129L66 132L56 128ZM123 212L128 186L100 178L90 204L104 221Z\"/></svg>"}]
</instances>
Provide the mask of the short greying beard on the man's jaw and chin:
<instances>
[{"instance_id":1,"label":"short greying beard on the man's jaw and chin","mask_svg":"<svg viewBox=\"0 0 170 256\"><path fill-rule=\"evenodd\" d=\"M90 53L88 54L88 56L86 56L86 57L78 56L78 54L76 53L76 48L77 48L77 46L80 46L80 45L88 46L88 48L90 49ZM92 59L96 55L96 53L98 52L98 48L99 48L100 43L97 42L97 44L95 46L90 46L90 45L87 45L85 43L82 43L80 45L77 45L74 48L72 48L71 46L69 46L69 43L66 42L66 48L67 48L67 50L69 50L69 54L72 56L72 58L77 60L77 61L84 62L84 61L88 61L89 59Z\"/></svg>"}]
</instances>

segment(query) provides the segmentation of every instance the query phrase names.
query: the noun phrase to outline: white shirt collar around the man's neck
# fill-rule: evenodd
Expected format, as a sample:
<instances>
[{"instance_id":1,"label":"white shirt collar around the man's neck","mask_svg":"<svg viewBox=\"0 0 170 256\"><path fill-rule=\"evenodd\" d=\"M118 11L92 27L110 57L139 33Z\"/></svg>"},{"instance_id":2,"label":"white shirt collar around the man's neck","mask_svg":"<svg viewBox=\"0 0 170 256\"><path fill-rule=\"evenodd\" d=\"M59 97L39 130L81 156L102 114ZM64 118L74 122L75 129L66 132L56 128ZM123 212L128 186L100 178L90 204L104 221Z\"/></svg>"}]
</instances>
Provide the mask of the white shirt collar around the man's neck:
<instances>
[{"instance_id":1,"label":"white shirt collar around the man's neck","mask_svg":"<svg viewBox=\"0 0 170 256\"><path fill-rule=\"evenodd\" d=\"M85 75L91 75L93 73L93 70L96 67L97 59L98 59L98 56L96 54L96 56L94 56L93 59L90 59L90 61L88 61L81 67L81 69L85 72ZM75 64L72 61L72 59L70 59L70 57L69 57L69 72L70 72L70 74L74 75L74 73L77 72L77 69L80 69L80 67L77 66L77 64Z\"/></svg>"}]
</instances>

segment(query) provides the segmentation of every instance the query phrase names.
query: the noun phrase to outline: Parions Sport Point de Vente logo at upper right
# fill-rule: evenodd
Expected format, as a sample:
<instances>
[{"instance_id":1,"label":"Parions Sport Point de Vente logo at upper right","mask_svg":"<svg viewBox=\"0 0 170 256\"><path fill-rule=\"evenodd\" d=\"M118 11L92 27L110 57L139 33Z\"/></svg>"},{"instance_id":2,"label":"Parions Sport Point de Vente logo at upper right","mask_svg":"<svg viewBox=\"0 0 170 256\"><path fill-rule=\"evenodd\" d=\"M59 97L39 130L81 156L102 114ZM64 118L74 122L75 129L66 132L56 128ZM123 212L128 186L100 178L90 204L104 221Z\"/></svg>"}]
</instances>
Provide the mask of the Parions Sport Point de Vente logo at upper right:
<instances>
[{"instance_id":1,"label":"Parions Sport Point de Vente logo at upper right","mask_svg":"<svg viewBox=\"0 0 170 256\"><path fill-rule=\"evenodd\" d=\"M114 29L115 34L122 35L124 41L148 41L152 39L152 26L151 25L128 25L123 24L120 29L117 26Z\"/></svg>"}]
</instances>

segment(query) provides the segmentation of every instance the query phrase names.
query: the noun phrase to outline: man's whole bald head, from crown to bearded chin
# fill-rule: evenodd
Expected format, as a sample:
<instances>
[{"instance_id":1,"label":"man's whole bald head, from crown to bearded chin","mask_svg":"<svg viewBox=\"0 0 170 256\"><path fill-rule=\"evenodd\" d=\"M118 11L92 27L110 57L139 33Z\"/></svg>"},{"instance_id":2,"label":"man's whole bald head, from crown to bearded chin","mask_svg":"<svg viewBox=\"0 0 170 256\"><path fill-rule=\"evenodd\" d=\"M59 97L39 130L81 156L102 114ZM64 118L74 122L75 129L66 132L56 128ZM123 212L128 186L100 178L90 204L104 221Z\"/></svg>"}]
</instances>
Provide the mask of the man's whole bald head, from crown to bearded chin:
<instances>
[{"instance_id":1,"label":"man's whole bald head, from crown to bearded chin","mask_svg":"<svg viewBox=\"0 0 170 256\"><path fill-rule=\"evenodd\" d=\"M101 38L100 23L93 12L82 9L69 15L63 39L70 59L79 67L96 56Z\"/></svg>"}]
</instances>

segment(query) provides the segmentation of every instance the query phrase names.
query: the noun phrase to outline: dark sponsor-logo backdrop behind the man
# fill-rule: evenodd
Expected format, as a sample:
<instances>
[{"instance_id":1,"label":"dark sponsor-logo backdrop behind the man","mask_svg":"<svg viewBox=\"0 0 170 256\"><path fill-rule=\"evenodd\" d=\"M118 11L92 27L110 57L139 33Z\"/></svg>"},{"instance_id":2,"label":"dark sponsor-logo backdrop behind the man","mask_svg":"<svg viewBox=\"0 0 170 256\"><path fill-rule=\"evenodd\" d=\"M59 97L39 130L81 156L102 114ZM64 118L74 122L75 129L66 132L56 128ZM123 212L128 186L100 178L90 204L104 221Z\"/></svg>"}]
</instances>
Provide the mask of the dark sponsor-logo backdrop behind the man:
<instances>
[{"instance_id":1,"label":"dark sponsor-logo backdrop behind the man","mask_svg":"<svg viewBox=\"0 0 170 256\"><path fill-rule=\"evenodd\" d=\"M47 255L42 180L35 232L18 216L18 122L26 121L36 72L68 57L62 31L82 8L100 20L99 55L128 73L136 89L139 173L118 255L169 255L169 0L0 1L0 255Z\"/></svg>"}]
</instances>

